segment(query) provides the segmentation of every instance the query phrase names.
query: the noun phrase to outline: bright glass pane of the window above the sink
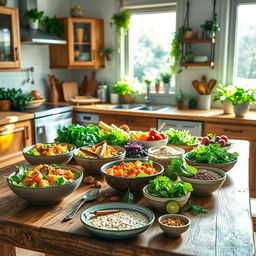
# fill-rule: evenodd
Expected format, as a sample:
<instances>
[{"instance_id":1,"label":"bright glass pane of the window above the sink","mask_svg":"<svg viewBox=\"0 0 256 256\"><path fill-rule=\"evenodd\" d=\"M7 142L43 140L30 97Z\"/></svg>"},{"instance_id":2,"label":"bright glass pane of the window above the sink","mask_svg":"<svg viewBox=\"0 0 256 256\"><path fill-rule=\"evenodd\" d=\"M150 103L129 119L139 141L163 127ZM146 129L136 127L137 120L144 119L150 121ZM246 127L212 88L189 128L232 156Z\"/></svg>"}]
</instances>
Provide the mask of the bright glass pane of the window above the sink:
<instances>
[{"instance_id":1,"label":"bright glass pane of the window above the sink","mask_svg":"<svg viewBox=\"0 0 256 256\"><path fill-rule=\"evenodd\" d=\"M176 29L175 12L134 14L129 29L129 75L140 82L167 72L172 34Z\"/></svg>"}]
</instances>

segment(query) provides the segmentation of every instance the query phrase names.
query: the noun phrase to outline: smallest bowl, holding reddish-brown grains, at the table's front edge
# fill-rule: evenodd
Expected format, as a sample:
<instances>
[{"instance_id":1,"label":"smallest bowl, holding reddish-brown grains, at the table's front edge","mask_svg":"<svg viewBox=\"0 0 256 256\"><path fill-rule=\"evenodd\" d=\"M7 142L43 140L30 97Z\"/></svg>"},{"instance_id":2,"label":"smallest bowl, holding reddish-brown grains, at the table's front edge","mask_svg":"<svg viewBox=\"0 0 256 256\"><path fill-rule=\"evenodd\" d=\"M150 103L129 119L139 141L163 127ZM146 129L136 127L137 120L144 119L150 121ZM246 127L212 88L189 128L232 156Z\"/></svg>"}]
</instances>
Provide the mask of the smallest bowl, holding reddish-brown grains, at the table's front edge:
<instances>
[{"instance_id":1,"label":"smallest bowl, holding reddish-brown grains, at the table's front edge","mask_svg":"<svg viewBox=\"0 0 256 256\"><path fill-rule=\"evenodd\" d=\"M158 223L168 236L177 237L188 230L190 219L181 214L165 214L158 218Z\"/></svg>"}]
</instances>

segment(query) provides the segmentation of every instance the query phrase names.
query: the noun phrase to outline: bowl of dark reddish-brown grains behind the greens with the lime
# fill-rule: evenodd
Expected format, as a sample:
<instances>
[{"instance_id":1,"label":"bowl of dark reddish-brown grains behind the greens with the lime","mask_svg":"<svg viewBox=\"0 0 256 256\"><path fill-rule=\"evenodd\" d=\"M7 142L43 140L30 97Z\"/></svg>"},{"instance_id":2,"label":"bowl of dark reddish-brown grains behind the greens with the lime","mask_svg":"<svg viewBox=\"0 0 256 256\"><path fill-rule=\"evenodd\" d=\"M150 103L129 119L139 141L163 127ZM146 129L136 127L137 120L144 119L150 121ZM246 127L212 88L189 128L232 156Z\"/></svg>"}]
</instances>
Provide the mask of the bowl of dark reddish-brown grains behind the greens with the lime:
<instances>
[{"instance_id":1,"label":"bowl of dark reddish-brown grains behind the greens with the lime","mask_svg":"<svg viewBox=\"0 0 256 256\"><path fill-rule=\"evenodd\" d=\"M197 196L209 196L218 190L226 180L226 173L221 169L206 166L194 166L197 174L192 177L180 176L183 181L193 186L192 193Z\"/></svg>"}]
</instances>

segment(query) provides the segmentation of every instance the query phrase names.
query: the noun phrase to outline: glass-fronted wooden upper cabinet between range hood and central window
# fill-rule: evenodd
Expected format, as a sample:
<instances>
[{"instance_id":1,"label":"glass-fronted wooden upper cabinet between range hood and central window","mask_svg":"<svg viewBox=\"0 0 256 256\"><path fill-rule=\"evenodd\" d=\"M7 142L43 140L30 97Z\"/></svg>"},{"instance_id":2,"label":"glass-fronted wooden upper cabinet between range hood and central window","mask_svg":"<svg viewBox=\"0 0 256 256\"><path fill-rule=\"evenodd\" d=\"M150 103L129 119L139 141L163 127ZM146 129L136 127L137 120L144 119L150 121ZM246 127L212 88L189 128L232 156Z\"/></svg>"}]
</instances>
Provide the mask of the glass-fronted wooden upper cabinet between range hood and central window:
<instances>
[{"instance_id":1,"label":"glass-fronted wooden upper cabinet between range hood and central window","mask_svg":"<svg viewBox=\"0 0 256 256\"><path fill-rule=\"evenodd\" d=\"M104 67L103 20L62 18L66 45L50 45L50 68L96 69Z\"/></svg>"}]
</instances>

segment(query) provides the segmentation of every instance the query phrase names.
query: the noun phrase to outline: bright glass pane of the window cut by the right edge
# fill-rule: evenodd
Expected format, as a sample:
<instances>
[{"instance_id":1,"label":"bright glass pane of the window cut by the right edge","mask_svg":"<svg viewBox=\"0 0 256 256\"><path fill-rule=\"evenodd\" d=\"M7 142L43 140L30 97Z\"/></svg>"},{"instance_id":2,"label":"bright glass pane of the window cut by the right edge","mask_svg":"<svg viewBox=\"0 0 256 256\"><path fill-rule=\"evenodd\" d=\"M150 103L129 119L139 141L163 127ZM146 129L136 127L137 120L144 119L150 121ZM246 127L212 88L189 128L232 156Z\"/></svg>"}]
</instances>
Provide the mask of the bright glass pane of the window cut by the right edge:
<instances>
[{"instance_id":1,"label":"bright glass pane of the window cut by the right edge","mask_svg":"<svg viewBox=\"0 0 256 256\"><path fill-rule=\"evenodd\" d=\"M256 88L256 4L237 7L236 47L233 83Z\"/></svg>"}]
</instances>

